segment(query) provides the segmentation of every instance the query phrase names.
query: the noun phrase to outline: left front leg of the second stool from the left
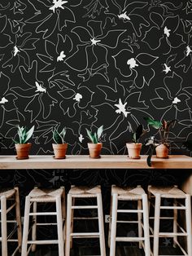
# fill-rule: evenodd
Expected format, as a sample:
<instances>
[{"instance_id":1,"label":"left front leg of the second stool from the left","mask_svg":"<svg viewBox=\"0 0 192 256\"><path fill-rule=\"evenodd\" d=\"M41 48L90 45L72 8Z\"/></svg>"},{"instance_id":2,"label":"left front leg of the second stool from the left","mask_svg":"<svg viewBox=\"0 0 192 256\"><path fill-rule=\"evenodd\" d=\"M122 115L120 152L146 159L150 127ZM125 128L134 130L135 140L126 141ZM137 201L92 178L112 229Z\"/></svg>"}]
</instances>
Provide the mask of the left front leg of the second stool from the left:
<instances>
[{"instance_id":1,"label":"left front leg of the second stool from the left","mask_svg":"<svg viewBox=\"0 0 192 256\"><path fill-rule=\"evenodd\" d=\"M25 198L25 208L24 208L24 233L22 241L21 256L28 255L28 224L29 224L29 212L30 212L30 196Z\"/></svg>"}]
</instances>

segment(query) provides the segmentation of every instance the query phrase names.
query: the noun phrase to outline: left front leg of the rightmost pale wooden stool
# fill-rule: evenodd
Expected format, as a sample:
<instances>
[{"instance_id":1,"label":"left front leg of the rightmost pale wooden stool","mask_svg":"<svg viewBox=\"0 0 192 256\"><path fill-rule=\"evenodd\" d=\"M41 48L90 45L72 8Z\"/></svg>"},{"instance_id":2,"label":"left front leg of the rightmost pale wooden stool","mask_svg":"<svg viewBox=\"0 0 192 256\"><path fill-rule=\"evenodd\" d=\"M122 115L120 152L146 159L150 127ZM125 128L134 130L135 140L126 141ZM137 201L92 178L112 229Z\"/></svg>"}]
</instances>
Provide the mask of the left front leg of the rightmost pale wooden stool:
<instances>
[{"instance_id":1,"label":"left front leg of the rightmost pale wooden stool","mask_svg":"<svg viewBox=\"0 0 192 256\"><path fill-rule=\"evenodd\" d=\"M159 254L159 218L160 218L160 194L155 195L155 219L154 219L154 245L153 254L158 256Z\"/></svg>"}]
</instances>

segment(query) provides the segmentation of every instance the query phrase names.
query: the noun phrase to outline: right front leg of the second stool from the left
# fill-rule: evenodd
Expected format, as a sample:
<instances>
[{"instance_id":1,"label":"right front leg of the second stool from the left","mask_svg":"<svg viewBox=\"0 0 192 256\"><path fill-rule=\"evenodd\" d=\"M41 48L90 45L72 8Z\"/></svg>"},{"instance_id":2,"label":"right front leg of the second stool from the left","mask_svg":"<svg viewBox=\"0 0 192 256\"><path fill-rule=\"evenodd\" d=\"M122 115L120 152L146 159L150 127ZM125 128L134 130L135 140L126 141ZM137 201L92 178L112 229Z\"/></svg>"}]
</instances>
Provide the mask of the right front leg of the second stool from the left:
<instances>
[{"instance_id":1,"label":"right front leg of the second stool from the left","mask_svg":"<svg viewBox=\"0 0 192 256\"><path fill-rule=\"evenodd\" d=\"M57 212L57 232L58 232L59 256L64 256L61 196L56 197L56 212Z\"/></svg>"}]
</instances>

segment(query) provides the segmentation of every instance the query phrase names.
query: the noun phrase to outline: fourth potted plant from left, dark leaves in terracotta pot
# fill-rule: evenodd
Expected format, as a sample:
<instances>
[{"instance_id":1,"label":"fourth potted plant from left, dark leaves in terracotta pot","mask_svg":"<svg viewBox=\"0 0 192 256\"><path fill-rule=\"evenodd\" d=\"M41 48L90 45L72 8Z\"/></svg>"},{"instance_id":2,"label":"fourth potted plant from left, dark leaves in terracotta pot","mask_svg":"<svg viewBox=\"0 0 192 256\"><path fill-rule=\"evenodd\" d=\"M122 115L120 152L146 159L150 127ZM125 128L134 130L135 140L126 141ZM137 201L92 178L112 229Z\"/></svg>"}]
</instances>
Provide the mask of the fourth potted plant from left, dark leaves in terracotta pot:
<instances>
[{"instance_id":1,"label":"fourth potted plant from left, dark leaves in terracotta pot","mask_svg":"<svg viewBox=\"0 0 192 256\"><path fill-rule=\"evenodd\" d=\"M137 130L132 133L132 141L133 143L126 143L128 148L129 158L139 159L140 152L142 149L142 143L139 143L139 139L145 135L147 130L143 130L143 126L137 126Z\"/></svg>"}]
</instances>

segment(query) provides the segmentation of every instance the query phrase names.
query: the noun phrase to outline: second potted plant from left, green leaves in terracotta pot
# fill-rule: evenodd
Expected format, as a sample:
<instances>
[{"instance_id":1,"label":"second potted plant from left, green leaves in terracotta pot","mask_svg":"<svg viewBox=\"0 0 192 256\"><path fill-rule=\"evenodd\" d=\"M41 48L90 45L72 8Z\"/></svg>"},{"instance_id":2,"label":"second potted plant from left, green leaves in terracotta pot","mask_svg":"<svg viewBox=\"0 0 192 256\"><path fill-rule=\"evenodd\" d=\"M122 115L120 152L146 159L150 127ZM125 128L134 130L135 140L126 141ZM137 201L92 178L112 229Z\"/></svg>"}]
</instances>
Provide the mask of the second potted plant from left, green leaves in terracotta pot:
<instances>
[{"instance_id":1,"label":"second potted plant from left, green leaves in terracotta pot","mask_svg":"<svg viewBox=\"0 0 192 256\"><path fill-rule=\"evenodd\" d=\"M52 143L55 159L63 159L65 158L66 151L68 148L68 143L65 143L64 137L66 135L66 128L63 128L61 132L58 131L57 128L53 130L53 139L55 143Z\"/></svg>"}]
</instances>

